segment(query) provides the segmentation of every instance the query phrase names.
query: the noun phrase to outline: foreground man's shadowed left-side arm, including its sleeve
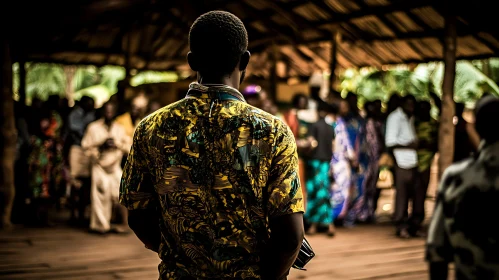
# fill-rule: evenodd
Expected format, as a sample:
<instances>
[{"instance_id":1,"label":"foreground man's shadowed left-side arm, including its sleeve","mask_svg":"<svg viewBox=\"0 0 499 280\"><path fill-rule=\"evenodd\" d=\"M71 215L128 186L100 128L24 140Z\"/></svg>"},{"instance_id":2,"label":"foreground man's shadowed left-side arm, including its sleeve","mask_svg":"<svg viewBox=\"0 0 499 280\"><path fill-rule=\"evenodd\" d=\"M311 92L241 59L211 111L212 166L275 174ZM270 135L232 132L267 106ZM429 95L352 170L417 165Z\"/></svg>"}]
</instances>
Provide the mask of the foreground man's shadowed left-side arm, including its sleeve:
<instances>
[{"instance_id":1,"label":"foreground man's shadowed left-side arm, including its sleeve","mask_svg":"<svg viewBox=\"0 0 499 280\"><path fill-rule=\"evenodd\" d=\"M141 137L142 127L135 132L132 148L123 170L120 203L128 209L128 224L146 248L157 252L161 242L157 194L147 161L147 149Z\"/></svg>"}]
</instances>

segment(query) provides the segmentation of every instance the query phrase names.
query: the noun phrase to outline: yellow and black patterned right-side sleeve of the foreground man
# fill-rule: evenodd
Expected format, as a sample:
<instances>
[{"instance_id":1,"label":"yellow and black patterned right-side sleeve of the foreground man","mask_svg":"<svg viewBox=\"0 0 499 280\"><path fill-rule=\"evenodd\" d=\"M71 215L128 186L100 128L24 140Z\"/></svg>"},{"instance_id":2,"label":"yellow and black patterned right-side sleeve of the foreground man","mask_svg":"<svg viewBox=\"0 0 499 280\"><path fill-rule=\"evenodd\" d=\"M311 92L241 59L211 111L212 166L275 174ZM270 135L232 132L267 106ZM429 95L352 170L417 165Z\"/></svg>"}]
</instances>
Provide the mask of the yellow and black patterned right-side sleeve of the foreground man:
<instances>
[{"instance_id":1,"label":"yellow and black patterned right-side sleeve of the foreground man","mask_svg":"<svg viewBox=\"0 0 499 280\"><path fill-rule=\"evenodd\" d=\"M269 217L303 213L296 142L291 129L282 123L277 127L269 173L267 184Z\"/></svg>"}]
</instances>

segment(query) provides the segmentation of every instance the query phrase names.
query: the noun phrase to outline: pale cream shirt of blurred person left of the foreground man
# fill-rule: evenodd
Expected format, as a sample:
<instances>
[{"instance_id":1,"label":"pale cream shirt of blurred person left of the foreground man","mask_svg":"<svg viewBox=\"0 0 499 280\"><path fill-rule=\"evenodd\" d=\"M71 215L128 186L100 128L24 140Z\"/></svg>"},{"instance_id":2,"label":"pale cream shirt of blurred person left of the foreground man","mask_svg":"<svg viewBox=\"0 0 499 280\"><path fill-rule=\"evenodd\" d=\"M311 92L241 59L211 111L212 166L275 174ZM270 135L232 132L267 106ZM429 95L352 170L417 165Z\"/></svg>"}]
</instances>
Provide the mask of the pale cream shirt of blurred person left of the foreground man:
<instances>
[{"instance_id":1,"label":"pale cream shirt of blurred person left of the foreground man","mask_svg":"<svg viewBox=\"0 0 499 280\"><path fill-rule=\"evenodd\" d=\"M100 146L109 138L114 139L117 148L100 151ZM132 138L126 134L125 128L116 121L108 127L104 119L100 119L88 125L81 144L85 154L91 158L93 164L98 164L106 172L111 173L116 168L120 168L123 153L130 151Z\"/></svg>"}]
</instances>

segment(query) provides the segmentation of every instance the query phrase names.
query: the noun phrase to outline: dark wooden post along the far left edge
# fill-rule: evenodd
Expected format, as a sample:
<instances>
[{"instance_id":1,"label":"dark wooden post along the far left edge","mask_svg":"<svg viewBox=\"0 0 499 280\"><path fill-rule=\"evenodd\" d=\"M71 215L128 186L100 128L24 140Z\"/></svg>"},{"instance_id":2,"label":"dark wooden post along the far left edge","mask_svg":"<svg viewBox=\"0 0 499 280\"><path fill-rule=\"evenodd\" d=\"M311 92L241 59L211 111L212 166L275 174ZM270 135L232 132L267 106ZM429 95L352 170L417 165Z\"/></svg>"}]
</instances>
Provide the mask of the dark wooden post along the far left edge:
<instances>
[{"instance_id":1,"label":"dark wooden post along the far left edge","mask_svg":"<svg viewBox=\"0 0 499 280\"><path fill-rule=\"evenodd\" d=\"M14 160L16 155L17 131L14 117L14 101L12 99L12 62L9 43L2 39L0 44L2 56L2 72L0 88L2 90L0 111L0 228L12 226L10 216L14 203Z\"/></svg>"}]
</instances>

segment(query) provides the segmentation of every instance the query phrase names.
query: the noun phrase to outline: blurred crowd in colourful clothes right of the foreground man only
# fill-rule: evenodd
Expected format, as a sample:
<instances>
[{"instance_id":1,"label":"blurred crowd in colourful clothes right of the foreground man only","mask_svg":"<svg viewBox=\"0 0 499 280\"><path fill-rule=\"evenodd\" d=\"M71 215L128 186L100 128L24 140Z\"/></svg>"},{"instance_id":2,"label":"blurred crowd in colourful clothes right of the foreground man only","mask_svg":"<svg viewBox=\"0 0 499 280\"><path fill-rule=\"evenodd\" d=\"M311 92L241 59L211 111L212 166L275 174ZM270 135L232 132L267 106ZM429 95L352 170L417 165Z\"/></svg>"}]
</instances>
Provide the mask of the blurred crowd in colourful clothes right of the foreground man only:
<instances>
[{"instance_id":1,"label":"blurred crowd in colourful clothes right of the foreground man only","mask_svg":"<svg viewBox=\"0 0 499 280\"><path fill-rule=\"evenodd\" d=\"M248 103L281 118L295 135L308 234L334 236L338 225L375 223L381 191L395 187L396 234L426 236L422 223L439 129L431 111L440 112L438 96L417 101L393 93L386 104L371 100L359 106L353 92L323 99L320 91L311 86L309 95L296 94L291 108L282 111L265 91L244 93ZM464 110L456 103L454 162L476 153L480 142Z\"/></svg>"}]
</instances>

